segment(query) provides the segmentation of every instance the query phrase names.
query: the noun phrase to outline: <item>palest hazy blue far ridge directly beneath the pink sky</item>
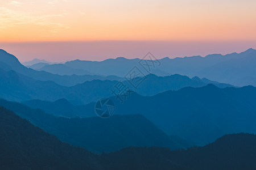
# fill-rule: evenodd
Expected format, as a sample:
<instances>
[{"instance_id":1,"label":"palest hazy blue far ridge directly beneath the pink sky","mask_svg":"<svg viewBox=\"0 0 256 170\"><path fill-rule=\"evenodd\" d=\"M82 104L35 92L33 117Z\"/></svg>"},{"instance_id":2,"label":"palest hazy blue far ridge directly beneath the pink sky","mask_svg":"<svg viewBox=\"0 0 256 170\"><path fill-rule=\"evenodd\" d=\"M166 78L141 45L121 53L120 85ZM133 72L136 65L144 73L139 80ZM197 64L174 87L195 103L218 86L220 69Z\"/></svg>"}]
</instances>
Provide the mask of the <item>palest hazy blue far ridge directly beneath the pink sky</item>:
<instances>
[{"instance_id":1,"label":"palest hazy blue far ridge directly beneath the pink sky","mask_svg":"<svg viewBox=\"0 0 256 170\"><path fill-rule=\"evenodd\" d=\"M106 59L102 62L93 61L69 61L63 65L73 69L85 69L90 73L99 75L125 76L134 67L138 66L140 59ZM242 53L232 53L225 56L221 54L210 54L206 57L193 56L170 59L168 57L159 59L161 65L159 71L152 70L152 74L181 74L189 77L199 76L216 80L217 82L229 83L235 86L256 86L256 50L248 49ZM54 65L47 66L52 69ZM139 66L138 66L139 67ZM42 70L44 70L42 68ZM143 70L143 69L142 69ZM162 74L163 73L163 74ZM74 72L75 74L75 72Z\"/></svg>"}]
</instances>

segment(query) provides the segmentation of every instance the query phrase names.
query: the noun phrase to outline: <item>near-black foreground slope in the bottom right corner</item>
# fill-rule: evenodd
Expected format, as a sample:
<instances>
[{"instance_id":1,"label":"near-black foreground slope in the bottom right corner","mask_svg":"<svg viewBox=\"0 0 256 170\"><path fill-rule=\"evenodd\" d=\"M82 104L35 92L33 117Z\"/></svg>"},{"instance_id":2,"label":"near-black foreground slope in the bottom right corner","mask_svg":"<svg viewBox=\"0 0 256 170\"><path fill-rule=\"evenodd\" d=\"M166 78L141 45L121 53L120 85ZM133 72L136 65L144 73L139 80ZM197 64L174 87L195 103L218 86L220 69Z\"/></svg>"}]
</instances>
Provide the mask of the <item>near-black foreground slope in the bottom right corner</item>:
<instances>
[{"instance_id":1,"label":"near-black foreground slope in the bottom right corner","mask_svg":"<svg viewBox=\"0 0 256 170\"><path fill-rule=\"evenodd\" d=\"M252 170L256 169L255 144L255 135L231 134L210 145L188 150L129 147L102 154L101 162L105 169Z\"/></svg>"}]
</instances>

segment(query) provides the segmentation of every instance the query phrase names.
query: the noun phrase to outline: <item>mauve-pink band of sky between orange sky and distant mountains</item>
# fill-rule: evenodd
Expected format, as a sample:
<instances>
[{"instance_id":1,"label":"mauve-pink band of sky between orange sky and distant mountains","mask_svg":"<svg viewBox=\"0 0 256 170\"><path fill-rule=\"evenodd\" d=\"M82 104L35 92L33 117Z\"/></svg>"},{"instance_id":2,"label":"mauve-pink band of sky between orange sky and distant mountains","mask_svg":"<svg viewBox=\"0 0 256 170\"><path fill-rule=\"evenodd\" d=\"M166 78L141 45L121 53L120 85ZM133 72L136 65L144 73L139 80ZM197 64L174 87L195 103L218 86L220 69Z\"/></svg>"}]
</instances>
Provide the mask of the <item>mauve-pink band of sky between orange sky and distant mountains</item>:
<instances>
[{"instance_id":1,"label":"mauve-pink band of sky between orange sky and distant mountains","mask_svg":"<svg viewBox=\"0 0 256 170\"><path fill-rule=\"evenodd\" d=\"M34 58L52 62L73 59L101 61L107 58L142 58L147 52L158 58L240 53L256 49L256 41L85 41L85 42L0 42L0 49L21 62Z\"/></svg>"}]
</instances>

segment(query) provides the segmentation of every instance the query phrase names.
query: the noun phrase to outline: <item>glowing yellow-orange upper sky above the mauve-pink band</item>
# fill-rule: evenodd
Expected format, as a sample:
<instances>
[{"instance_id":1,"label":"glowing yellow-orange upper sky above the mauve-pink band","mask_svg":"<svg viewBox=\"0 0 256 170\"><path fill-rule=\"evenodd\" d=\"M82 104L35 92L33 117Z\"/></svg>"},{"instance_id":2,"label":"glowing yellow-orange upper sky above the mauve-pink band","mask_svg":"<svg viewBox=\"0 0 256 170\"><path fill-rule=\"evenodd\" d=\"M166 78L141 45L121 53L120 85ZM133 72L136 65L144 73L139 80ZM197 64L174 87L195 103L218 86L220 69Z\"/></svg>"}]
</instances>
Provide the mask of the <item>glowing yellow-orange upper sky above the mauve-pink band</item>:
<instances>
[{"instance_id":1,"label":"glowing yellow-orange upper sky above the mauve-pink band","mask_svg":"<svg viewBox=\"0 0 256 170\"><path fill-rule=\"evenodd\" d=\"M255 0L0 2L0 41L255 40Z\"/></svg>"}]
</instances>

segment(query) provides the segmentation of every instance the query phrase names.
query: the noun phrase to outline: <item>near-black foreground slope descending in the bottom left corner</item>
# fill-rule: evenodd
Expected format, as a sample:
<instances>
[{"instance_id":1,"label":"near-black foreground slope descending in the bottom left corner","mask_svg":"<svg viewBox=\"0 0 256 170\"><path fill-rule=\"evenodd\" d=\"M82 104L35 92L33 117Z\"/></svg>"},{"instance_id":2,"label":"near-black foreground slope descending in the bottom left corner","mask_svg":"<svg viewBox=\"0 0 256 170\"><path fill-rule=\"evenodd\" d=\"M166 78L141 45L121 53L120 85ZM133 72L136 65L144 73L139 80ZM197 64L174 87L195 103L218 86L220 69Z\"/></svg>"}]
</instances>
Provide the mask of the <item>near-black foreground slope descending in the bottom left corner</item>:
<instances>
[{"instance_id":1,"label":"near-black foreground slope descending in the bottom left corner","mask_svg":"<svg viewBox=\"0 0 256 170\"><path fill-rule=\"evenodd\" d=\"M0 169L101 169L96 155L60 142L0 107Z\"/></svg>"}]
</instances>

